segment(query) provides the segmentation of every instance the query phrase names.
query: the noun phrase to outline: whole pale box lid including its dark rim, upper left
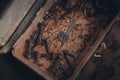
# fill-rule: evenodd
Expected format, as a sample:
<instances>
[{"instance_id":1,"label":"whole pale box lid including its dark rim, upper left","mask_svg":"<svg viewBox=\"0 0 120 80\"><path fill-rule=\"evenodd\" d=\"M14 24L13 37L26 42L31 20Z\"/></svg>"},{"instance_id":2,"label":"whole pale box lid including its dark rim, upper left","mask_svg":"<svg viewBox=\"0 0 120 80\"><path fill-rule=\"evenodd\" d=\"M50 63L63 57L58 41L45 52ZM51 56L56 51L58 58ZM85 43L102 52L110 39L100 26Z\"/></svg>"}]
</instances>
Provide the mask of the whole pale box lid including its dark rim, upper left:
<instances>
[{"instance_id":1,"label":"whole pale box lid including its dark rim, upper left","mask_svg":"<svg viewBox=\"0 0 120 80\"><path fill-rule=\"evenodd\" d=\"M4 0L0 4L0 53L8 52L46 0Z\"/></svg>"}]
</instances>

